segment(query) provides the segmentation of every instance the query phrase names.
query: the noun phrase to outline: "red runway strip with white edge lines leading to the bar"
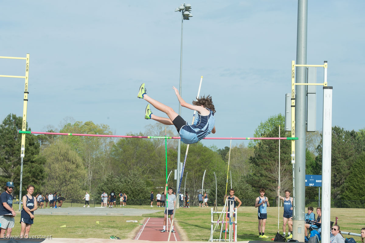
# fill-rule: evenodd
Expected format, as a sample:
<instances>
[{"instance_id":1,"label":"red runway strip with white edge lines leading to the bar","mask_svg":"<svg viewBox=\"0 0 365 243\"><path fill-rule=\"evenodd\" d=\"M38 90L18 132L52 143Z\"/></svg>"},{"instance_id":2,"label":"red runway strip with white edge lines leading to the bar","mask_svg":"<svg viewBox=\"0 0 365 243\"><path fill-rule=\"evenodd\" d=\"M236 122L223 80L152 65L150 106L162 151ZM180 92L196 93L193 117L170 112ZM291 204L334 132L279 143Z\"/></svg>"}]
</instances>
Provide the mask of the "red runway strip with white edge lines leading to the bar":
<instances>
[{"instance_id":1,"label":"red runway strip with white edge lines leading to the bar","mask_svg":"<svg viewBox=\"0 0 365 243\"><path fill-rule=\"evenodd\" d=\"M169 219L169 229L170 229ZM134 237L134 240L150 240L150 241L167 241L169 232L161 233L164 228L164 218L147 218L141 229ZM171 233L170 241L181 241L180 236L174 227L176 233Z\"/></svg>"}]
</instances>

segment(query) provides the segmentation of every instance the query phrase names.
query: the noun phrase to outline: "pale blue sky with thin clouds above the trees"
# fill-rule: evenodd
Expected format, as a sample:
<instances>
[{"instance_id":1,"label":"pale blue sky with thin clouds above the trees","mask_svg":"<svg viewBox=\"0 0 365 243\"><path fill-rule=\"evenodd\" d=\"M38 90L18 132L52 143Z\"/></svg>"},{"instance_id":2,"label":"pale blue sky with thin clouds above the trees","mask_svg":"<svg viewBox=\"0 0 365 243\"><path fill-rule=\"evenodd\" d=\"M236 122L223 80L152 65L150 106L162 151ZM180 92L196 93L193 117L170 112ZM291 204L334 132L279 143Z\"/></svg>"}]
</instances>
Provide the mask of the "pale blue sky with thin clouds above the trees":
<instances>
[{"instance_id":1,"label":"pale blue sky with thin clouds above the trees","mask_svg":"<svg viewBox=\"0 0 365 243\"><path fill-rule=\"evenodd\" d=\"M178 110L178 1L2 1L0 55L30 53L27 121L32 131L60 128L65 117L107 124L116 135L145 131L148 94ZM215 137L250 137L284 113L296 58L297 1L190 1L184 20L182 96L216 107ZM364 128L364 1L308 1L308 64L328 61L333 126ZM363 16L363 17L361 17ZM25 73L24 60L0 59L0 74ZM318 69L318 82L323 69ZM0 119L23 113L24 79L0 78ZM152 108L156 115L161 112ZM182 110L191 122L192 111ZM322 87L317 88L322 130ZM145 134L154 135L154 134ZM212 136L212 135L210 135ZM240 143L236 141L234 144ZM209 140L218 148L229 140Z\"/></svg>"}]
</instances>

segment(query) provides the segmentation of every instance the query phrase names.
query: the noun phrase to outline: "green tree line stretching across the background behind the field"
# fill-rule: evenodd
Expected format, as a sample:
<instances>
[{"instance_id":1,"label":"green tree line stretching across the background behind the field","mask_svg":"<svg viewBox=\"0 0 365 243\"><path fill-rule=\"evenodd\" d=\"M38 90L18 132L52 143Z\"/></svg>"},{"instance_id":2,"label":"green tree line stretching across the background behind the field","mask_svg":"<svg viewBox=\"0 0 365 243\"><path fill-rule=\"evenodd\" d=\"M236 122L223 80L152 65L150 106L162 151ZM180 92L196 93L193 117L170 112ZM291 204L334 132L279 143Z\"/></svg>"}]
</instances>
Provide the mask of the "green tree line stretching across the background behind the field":
<instances>
[{"instance_id":1,"label":"green tree line stretching across the background behind the field","mask_svg":"<svg viewBox=\"0 0 365 243\"><path fill-rule=\"evenodd\" d=\"M20 142L18 133L22 117L9 114L0 124L0 183L13 181L15 194L19 192ZM258 124L254 131L257 137L290 136L284 131L284 116L268 117ZM27 124L27 131L31 131ZM54 130L49 130L53 132ZM64 124L59 132L80 134L110 134L105 124L92 121L76 121ZM176 130L162 124L146 126L139 134L154 136L177 136ZM61 193L66 198L81 199L88 191L92 198L99 199L102 192L125 192L128 199L148 200L150 191L162 192L167 174L176 169L177 140L164 139L106 138L90 136L26 135L26 156L23 166L23 192L26 186L35 186L35 192ZM227 167L230 162L232 187L244 205L252 205L260 188L266 195L275 197L279 182L278 140L254 140L231 147L207 147L202 143L191 144L185 166L181 191L187 191L194 204L202 189L204 170L204 191L210 201L217 198L223 204L223 196L230 189L227 185ZM181 146L181 158L185 156L186 145ZM292 188L291 144L280 143L280 184ZM167 162L165 153L167 153ZM347 131L341 127L332 129L331 194L338 200L365 200L365 130ZM214 173L217 177L217 195ZM306 174L322 173L322 135L320 132L307 133ZM169 186L176 187L173 174ZM357 195L354 199L353 195ZM16 195L15 195L16 196ZM352 196L352 197L351 197ZM306 199L317 199L316 188L306 188ZM348 203L351 207L351 203Z\"/></svg>"}]
</instances>

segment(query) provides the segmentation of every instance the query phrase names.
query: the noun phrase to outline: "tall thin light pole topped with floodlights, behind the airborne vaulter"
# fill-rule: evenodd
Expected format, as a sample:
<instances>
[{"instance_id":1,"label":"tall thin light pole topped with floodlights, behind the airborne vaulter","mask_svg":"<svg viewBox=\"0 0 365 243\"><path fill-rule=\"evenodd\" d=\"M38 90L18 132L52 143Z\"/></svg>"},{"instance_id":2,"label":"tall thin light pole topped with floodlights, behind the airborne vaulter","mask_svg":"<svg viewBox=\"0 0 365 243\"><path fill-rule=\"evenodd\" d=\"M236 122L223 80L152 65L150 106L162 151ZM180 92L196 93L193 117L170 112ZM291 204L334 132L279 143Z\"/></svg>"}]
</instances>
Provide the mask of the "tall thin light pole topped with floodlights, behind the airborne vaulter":
<instances>
[{"instance_id":1,"label":"tall thin light pole topped with floodlights, behind the airborne vaulter","mask_svg":"<svg viewBox=\"0 0 365 243\"><path fill-rule=\"evenodd\" d=\"M191 15L191 5L190 4L181 4L178 8L175 9L175 12L181 12L181 48L180 48L180 86L179 86L179 94L181 96L181 75L183 73L183 23L184 19L189 20ZM179 116L181 116L181 105L179 102ZM176 188L179 187L180 183L180 139L177 144L177 167L176 167ZM176 205L178 208L178 204Z\"/></svg>"}]
</instances>

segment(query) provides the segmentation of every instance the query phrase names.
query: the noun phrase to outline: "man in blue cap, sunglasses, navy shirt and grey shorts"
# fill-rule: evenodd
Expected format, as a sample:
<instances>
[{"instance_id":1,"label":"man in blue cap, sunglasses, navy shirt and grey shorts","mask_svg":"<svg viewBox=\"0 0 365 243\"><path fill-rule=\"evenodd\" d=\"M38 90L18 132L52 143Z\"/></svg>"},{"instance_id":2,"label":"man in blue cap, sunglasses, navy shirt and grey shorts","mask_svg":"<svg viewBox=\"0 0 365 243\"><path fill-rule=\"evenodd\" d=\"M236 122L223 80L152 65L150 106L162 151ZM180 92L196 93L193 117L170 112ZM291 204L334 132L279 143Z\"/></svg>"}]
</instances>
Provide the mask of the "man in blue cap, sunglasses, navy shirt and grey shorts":
<instances>
[{"instance_id":1,"label":"man in blue cap, sunglasses, navy shirt and grey shorts","mask_svg":"<svg viewBox=\"0 0 365 243\"><path fill-rule=\"evenodd\" d=\"M0 238L3 238L6 232L6 237L10 238L11 230L14 228L15 211L13 209L13 196L11 193L14 190L14 183L8 181L4 186L5 192L0 195Z\"/></svg>"}]
</instances>

